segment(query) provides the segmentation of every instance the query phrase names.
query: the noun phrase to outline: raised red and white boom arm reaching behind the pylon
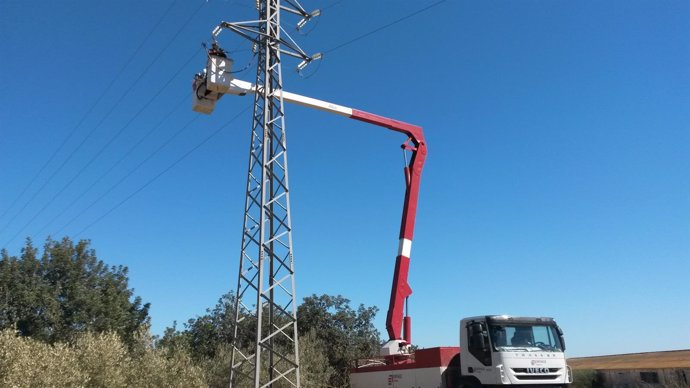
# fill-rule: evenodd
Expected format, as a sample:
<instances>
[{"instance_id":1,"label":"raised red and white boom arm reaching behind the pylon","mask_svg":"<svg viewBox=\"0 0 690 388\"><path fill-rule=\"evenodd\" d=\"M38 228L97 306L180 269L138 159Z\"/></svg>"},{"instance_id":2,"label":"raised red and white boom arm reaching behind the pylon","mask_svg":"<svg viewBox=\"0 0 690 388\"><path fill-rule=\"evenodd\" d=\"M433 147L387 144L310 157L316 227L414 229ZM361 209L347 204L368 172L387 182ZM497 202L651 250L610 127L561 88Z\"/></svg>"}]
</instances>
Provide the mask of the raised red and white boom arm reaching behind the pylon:
<instances>
[{"instance_id":1,"label":"raised red and white boom arm reaching behind the pylon","mask_svg":"<svg viewBox=\"0 0 690 388\"><path fill-rule=\"evenodd\" d=\"M256 89L257 88L250 82L233 79L230 81L229 88L224 88L224 93L246 95L255 93ZM198 96L198 91L195 91L195 93L197 93ZM282 97L283 100L287 102L385 127L396 132L404 133L408 137L407 141L402 145L402 148L410 151L412 156L409 164L405 166L405 202L403 203L402 221L400 224L400 243L398 245L398 255L395 260L393 285L391 288L388 314L386 316L386 330L388 331L389 342L384 345L382 349L383 355L400 354L407 350L406 345L409 345L412 339L411 318L406 316L404 308L407 297L412 294L412 289L407 283L407 275L410 268L410 252L412 249L415 216L417 214L419 184L422 168L424 166L424 159L427 153L422 128L402 121L301 96L299 94L283 91ZM213 103L215 103L215 101L213 101ZM211 110L212 109L211 107ZM401 335L401 331L403 331L403 335Z\"/></svg>"}]
</instances>

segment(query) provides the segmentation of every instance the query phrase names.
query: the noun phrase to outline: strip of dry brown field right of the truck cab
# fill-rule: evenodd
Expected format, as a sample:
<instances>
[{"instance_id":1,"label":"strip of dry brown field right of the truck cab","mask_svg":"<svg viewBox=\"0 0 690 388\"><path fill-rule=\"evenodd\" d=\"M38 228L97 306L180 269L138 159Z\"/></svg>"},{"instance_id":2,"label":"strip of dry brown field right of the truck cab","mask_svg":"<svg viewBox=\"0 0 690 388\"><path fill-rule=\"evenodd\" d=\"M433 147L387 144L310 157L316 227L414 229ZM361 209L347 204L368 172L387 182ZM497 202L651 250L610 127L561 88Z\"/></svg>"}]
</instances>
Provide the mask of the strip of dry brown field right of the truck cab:
<instances>
[{"instance_id":1,"label":"strip of dry brown field right of the truck cab","mask_svg":"<svg viewBox=\"0 0 690 388\"><path fill-rule=\"evenodd\" d=\"M573 369L690 368L690 349L568 359Z\"/></svg>"}]
</instances>

